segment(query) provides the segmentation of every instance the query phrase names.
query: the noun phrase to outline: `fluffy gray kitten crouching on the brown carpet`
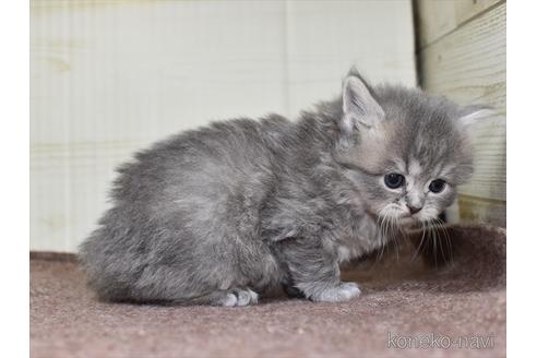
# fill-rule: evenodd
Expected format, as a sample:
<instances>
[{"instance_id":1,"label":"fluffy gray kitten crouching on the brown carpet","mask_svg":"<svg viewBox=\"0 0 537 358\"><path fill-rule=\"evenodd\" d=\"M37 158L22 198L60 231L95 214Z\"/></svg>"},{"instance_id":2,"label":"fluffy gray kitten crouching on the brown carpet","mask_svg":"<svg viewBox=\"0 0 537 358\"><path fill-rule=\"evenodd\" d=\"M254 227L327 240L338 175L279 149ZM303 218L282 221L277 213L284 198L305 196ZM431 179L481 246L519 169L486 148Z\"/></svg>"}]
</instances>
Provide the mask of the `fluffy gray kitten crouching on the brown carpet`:
<instances>
[{"instance_id":1,"label":"fluffy gray kitten crouching on the brown carpet","mask_svg":"<svg viewBox=\"0 0 537 358\"><path fill-rule=\"evenodd\" d=\"M339 263L386 243L380 223L434 219L472 174L470 122L419 90L371 87L301 114L187 131L119 168L114 207L80 248L100 298L246 306L283 286L313 301L360 294Z\"/></svg>"}]
</instances>

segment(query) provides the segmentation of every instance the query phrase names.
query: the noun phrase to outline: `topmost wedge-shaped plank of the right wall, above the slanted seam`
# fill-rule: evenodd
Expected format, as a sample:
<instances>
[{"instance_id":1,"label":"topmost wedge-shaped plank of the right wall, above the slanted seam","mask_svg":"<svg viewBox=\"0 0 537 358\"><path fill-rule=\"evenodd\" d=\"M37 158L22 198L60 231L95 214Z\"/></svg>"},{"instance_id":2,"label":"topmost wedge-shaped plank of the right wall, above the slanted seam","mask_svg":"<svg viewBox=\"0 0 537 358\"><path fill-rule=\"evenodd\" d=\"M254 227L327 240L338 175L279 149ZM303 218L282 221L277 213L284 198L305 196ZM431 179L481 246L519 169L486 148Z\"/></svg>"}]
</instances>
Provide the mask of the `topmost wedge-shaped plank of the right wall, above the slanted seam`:
<instances>
[{"instance_id":1,"label":"topmost wedge-shaped plank of the right wall, above the slanted seam","mask_svg":"<svg viewBox=\"0 0 537 358\"><path fill-rule=\"evenodd\" d=\"M504 0L418 0L419 47L438 40L500 2Z\"/></svg>"}]
</instances>

